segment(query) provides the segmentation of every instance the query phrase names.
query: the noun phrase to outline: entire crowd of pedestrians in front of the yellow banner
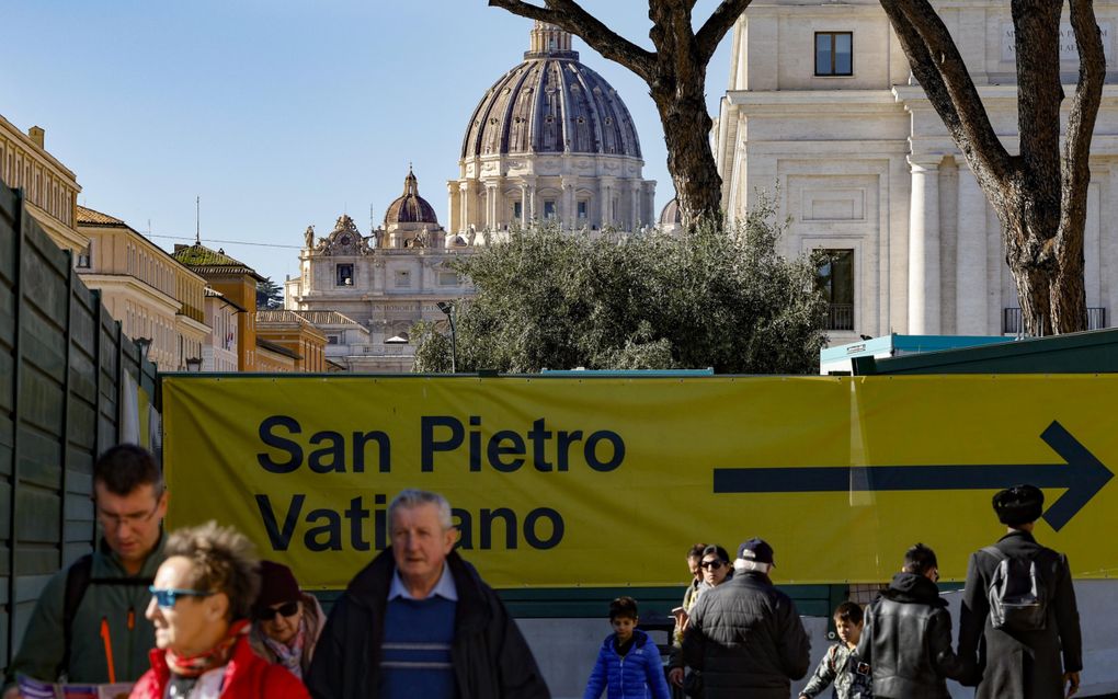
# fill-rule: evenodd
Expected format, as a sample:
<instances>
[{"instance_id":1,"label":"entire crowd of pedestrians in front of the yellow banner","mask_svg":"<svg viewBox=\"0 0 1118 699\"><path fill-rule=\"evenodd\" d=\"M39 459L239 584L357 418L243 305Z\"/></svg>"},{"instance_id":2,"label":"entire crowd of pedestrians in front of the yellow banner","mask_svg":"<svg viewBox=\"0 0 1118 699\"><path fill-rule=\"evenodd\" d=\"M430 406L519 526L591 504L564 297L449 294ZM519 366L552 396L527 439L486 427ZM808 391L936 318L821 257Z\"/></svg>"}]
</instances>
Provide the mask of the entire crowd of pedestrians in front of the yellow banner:
<instances>
[{"instance_id":1,"label":"entire crowd of pedestrians in front of the yellow banner","mask_svg":"<svg viewBox=\"0 0 1118 699\"><path fill-rule=\"evenodd\" d=\"M39 682L133 683L135 699L548 698L528 643L496 593L455 550L451 506L405 490L388 509L391 546L349 583L329 616L292 570L209 522L164 535L168 492L150 453L121 445L94 465L103 538L44 588L4 678L2 699ZM839 643L798 693L814 699L946 699L947 680L978 699L1057 699L1079 689L1082 644L1067 558L1036 542L1043 493L994 497L1007 533L969 561L953 646L939 564L922 545L863 610L835 610ZM762 539L735 559L686 554L665 664L637 602L609 606L584 699L786 699L811 643L771 579ZM32 681L34 681L32 680Z\"/></svg>"}]
</instances>

